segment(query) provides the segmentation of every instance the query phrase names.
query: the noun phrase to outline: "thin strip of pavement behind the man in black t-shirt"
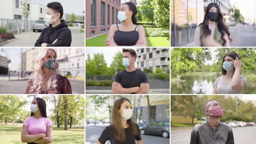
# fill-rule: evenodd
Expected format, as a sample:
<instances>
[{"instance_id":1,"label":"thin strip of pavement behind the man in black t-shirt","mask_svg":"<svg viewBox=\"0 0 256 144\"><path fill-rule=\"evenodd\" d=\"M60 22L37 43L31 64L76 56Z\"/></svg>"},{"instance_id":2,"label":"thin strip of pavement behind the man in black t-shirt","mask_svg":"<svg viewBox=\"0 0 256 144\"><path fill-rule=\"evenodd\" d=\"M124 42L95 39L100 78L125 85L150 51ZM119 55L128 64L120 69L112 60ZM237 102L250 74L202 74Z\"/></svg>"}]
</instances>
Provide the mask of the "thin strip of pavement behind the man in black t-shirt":
<instances>
[{"instance_id":1,"label":"thin strip of pavement behind the man in black t-shirt","mask_svg":"<svg viewBox=\"0 0 256 144\"><path fill-rule=\"evenodd\" d=\"M85 90L86 94L111 94L111 90L105 89L105 90ZM149 88L149 94L170 94L170 89L166 88L158 88L158 89L150 89Z\"/></svg>"}]
</instances>

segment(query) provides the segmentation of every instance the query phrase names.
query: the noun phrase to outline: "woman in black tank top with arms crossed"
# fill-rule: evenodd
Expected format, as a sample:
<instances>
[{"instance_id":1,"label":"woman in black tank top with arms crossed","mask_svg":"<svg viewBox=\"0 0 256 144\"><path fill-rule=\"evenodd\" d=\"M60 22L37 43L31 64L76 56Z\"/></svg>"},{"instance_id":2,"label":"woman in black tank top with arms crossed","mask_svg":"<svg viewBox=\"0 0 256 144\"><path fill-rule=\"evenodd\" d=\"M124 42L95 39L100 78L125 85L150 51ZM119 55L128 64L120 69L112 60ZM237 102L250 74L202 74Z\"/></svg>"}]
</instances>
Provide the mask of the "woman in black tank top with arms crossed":
<instances>
[{"instance_id":1,"label":"woman in black tank top with arms crossed","mask_svg":"<svg viewBox=\"0 0 256 144\"><path fill-rule=\"evenodd\" d=\"M145 29L137 25L136 14L135 4L121 4L117 16L121 24L110 26L105 46L147 46Z\"/></svg>"}]
</instances>

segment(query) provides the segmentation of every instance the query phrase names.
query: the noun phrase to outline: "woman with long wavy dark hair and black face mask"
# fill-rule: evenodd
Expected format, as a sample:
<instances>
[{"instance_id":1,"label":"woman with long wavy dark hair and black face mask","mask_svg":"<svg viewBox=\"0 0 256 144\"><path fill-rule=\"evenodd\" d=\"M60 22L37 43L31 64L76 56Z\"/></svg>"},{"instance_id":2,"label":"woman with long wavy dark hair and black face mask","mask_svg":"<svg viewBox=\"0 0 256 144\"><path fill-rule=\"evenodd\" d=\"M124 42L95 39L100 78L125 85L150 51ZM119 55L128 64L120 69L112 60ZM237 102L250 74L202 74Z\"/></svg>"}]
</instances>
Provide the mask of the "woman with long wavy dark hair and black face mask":
<instances>
[{"instance_id":1,"label":"woman with long wavy dark hair and black face mask","mask_svg":"<svg viewBox=\"0 0 256 144\"><path fill-rule=\"evenodd\" d=\"M230 46L232 39L217 3L208 4L203 23L195 31L195 46Z\"/></svg>"}]
</instances>

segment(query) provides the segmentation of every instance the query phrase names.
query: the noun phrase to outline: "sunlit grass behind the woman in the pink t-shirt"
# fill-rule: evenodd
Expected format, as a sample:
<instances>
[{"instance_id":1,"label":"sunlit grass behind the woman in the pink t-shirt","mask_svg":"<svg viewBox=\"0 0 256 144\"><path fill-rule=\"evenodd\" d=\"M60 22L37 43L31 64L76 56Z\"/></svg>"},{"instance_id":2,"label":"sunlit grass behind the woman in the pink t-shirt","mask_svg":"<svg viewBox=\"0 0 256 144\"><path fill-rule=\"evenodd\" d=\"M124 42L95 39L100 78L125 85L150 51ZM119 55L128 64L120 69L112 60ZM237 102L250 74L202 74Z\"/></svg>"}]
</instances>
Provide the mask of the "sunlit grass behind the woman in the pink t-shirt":
<instances>
[{"instance_id":1,"label":"sunlit grass behind the woman in the pink t-shirt","mask_svg":"<svg viewBox=\"0 0 256 144\"><path fill-rule=\"evenodd\" d=\"M22 124L0 124L0 143L26 144L21 142L21 131ZM68 131L64 131L64 126L60 128L53 126L53 144L84 144L84 137L84 127L73 127Z\"/></svg>"}]
</instances>

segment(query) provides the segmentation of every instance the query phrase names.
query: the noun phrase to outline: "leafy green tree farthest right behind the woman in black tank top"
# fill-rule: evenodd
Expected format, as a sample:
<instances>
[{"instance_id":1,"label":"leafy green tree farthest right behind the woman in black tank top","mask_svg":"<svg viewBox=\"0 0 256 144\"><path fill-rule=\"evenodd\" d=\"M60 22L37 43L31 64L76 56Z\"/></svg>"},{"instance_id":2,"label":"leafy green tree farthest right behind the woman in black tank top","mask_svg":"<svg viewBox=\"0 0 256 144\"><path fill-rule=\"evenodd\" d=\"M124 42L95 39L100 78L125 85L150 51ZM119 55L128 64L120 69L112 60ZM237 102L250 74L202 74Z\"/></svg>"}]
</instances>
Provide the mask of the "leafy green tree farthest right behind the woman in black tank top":
<instances>
[{"instance_id":1,"label":"leafy green tree farthest right behind the woman in black tank top","mask_svg":"<svg viewBox=\"0 0 256 144\"><path fill-rule=\"evenodd\" d=\"M154 21L156 26L167 30L164 33L167 39L170 39L170 0L153 0L152 6L154 8Z\"/></svg>"}]
</instances>

